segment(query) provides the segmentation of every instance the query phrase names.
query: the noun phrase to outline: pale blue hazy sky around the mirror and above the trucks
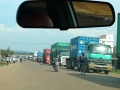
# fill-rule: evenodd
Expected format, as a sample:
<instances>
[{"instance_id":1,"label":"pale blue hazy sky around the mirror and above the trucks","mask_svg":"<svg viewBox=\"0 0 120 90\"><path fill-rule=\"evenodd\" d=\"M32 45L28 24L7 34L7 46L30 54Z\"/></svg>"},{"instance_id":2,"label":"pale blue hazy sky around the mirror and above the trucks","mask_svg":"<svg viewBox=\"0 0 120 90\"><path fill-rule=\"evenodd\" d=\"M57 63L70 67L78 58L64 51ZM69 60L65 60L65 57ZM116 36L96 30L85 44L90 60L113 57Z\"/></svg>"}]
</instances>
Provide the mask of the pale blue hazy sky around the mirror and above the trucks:
<instances>
[{"instance_id":1,"label":"pale blue hazy sky around the mirror and above the trucks","mask_svg":"<svg viewBox=\"0 0 120 90\"><path fill-rule=\"evenodd\" d=\"M113 5L116 14L115 23L110 27L81 28L60 31L59 29L24 29L16 22L18 6L25 0L0 0L0 49L20 51L43 51L56 42L70 42L77 36L113 34L116 45L117 13L120 12L120 0L100 0ZM97 0L96 0L97 1ZM4 10L3 10L4 9Z\"/></svg>"}]
</instances>

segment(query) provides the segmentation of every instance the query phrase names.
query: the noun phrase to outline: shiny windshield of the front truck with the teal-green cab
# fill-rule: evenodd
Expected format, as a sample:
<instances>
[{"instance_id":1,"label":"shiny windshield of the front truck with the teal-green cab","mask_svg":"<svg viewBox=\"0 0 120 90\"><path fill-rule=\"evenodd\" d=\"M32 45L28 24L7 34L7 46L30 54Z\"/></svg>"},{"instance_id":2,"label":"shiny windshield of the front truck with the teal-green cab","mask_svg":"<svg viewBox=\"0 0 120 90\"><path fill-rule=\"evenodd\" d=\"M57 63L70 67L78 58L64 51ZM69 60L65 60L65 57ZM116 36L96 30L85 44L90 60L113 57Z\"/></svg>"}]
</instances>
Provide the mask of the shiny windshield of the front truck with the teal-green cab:
<instances>
[{"instance_id":1,"label":"shiny windshield of the front truck with the teal-green cab","mask_svg":"<svg viewBox=\"0 0 120 90\"><path fill-rule=\"evenodd\" d=\"M105 45L92 45L90 52L92 53L100 53L100 54L110 54L111 53L111 47L105 46Z\"/></svg>"}]
</instances>

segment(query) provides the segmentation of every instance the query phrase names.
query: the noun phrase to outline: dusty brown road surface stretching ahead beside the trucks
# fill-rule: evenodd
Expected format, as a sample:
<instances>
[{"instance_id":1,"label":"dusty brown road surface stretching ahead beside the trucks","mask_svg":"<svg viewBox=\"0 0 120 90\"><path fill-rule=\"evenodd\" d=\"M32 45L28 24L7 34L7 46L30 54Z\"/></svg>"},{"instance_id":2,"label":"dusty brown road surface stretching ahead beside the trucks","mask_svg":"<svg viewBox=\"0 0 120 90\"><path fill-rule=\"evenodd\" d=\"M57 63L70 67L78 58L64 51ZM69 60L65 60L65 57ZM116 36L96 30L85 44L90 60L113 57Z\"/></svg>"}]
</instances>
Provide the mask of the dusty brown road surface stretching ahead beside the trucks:
<instances>
[{"instance_id":1,"label":"dusty brown road surface stretching ahead beside the trucks","mask_svg":"<svg viewBox=\"0 0 120 90\"><path fill-rule=\"evenodd\" d=\"M23 61L0 67L0 90L120 90L120 76L87 73L80 75L62 67Z\"/></svg>"}]
</instances>

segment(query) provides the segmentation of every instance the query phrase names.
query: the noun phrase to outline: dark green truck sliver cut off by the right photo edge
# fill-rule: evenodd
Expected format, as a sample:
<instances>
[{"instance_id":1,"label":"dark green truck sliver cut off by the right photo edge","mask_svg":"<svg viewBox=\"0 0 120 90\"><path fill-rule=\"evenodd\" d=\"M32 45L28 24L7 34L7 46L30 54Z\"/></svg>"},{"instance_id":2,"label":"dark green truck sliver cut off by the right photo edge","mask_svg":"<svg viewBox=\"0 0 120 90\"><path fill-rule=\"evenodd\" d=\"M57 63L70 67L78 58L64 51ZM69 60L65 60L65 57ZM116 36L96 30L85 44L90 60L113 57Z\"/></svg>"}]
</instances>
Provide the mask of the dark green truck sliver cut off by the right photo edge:
<instances>
[{"instance_id":1,"label":"dark green truck sliver cut off by the right photo edge","mask_svg":"<svg viewBox=\"0 0 120 90\"><path fill-rule=\"evenodd\" d=\"M119 60L118 68L120 68L120 40L119 39L120 39L120 13L118 13L118 20L117 20L117 44L116 44L116 57Z\"/></svg>"}]
</instances>

